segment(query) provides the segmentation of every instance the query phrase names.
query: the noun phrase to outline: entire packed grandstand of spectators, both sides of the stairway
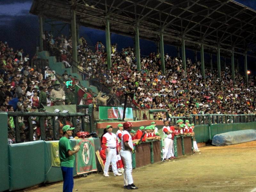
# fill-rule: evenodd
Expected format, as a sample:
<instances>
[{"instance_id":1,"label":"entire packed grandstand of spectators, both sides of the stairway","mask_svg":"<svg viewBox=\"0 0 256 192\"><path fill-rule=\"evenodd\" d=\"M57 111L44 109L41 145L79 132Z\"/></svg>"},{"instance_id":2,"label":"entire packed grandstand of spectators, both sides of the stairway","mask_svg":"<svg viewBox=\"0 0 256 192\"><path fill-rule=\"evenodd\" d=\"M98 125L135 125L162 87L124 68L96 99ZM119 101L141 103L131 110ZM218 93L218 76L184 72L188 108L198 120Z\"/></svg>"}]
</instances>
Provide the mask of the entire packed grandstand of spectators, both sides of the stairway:
<instances>
[{"instance_id":1,"label":"entire packed grandstand of spectators, both sides of the stairway","mask_svg":"<svg viewBox=\"0 0 256 192\"><path fill-rule=\"evenodd\" d=\"M72 39L61 35L53 37L48 32L44 37L44 48L65 65L72 67ZM151 52L141 58L141 70L137 70L136 56L132 47L117 50L117 44L111 45L112 67L107 68L105 46L98 41L94 48L89 48L84 37L77 46L77 71L83 80L98 88L99 94L90 88L83 88L76 77L66 71L59 81L44 76L44 69L36 68L31 58L22 48L13 50L7 42L0 41L0 103L1 112L44 111L44 106L77 104L75 85L84 93L78 104L96 106L122 106L124 96L128 94L128 106L138 109L167 109L169 116L189 116L190 114L251 114L255 113L255 78L250 76L245 84L244 77L236 71L236 82L232 81L230 69L217 72L205 69L205 79L201 76L200 61L190 59L182 61L176 56L165 54L166 72L161 71L159 53ZM187 76L182 68L186 62ZM60 74L61 76L61 74ZM66 82L72 81L67 88ZM63 90L61 94L56 90ZM68 111L63 111L68 112ZM9 117L9 143L15 141L14 121ZM164 113L156 113L157 120L168 120ZM60 124L64 122L58 119ZM49 121L50 122L50 121ZM45 122L50 126L50 123ZM28 138L28 124L23 119L19 122L21 141ZM70 123L70 122L69 122ZM40 139L38 119L35 125L34 140ZM65 123L66 124L66 123ZM70 123L71 124L71 123ZM53 140L52 128L46 130L46 140ZM37 128L36 128L37 127ZM60 135L58 138L60 138Z\"/></svg>"}]
</instances>

